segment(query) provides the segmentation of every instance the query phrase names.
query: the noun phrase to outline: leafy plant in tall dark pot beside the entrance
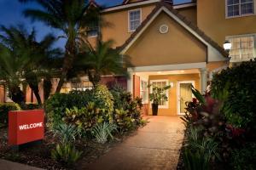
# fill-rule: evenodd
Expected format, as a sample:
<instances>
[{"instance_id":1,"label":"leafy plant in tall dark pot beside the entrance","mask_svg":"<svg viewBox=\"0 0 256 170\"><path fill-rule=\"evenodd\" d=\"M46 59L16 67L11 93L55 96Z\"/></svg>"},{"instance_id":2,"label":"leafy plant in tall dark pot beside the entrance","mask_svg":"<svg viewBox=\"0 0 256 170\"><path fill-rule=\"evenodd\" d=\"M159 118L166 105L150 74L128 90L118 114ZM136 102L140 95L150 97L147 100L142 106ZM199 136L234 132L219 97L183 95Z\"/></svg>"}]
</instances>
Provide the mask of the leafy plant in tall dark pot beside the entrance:
<instances>
[{"instance_id":1,"label":"leafy plant in tall dark pot beside the entrance","mask_svg":"<svg viewBox=\"0 0 256 170\"><path fill-rule=\"evenodd\" d=\"M149 84L148 88L152 86L152 94L149 94L149 99L152 102L152 114L153 116L157 116L158 113L158 105L160 101L168 101L166 96L166 90L171 88L171 86L166 86L164 88L158 88L155 84Z\"/></svg>"}]
</instances>

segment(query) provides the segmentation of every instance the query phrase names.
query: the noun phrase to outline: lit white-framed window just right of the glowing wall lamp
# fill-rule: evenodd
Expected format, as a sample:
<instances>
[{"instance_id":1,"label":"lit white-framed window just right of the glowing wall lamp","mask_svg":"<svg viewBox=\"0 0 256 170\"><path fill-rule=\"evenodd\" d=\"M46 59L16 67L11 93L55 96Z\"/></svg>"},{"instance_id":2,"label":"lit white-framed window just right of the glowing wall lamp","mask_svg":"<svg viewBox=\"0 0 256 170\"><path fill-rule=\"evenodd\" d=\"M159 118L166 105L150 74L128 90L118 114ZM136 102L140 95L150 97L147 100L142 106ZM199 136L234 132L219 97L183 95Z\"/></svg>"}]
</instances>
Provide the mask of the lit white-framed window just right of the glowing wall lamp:
<instances>
[{"instance_id":1,"label":"lit white-framed window just right of the glowing wall lamp","mask_svg":"<svg viewBox=\"0 0 256 170\"><path fill-rule=\"evenodd\" d=\"M230 49L231 62L241 62L254 57L254 36L230 37L232 44Z\"/></svg>"}]
</instances>

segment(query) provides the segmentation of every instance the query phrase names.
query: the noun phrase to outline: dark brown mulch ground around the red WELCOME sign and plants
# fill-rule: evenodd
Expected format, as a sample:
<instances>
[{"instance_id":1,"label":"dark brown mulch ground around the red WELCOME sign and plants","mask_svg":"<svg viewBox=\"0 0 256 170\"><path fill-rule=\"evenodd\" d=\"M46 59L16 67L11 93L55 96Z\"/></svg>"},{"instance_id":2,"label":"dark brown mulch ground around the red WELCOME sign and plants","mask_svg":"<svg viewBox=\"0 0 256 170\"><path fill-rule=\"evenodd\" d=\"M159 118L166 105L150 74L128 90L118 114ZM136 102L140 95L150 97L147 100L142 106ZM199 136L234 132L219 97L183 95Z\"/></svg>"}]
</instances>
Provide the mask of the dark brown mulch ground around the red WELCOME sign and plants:
<instances>
[{"instance_id":1,"label":"dark brown mulch ground around the red WELCOME sign and plants","mask_svg":"<svg viewBox=\"0 0 256 170\"><path fill-rule=\"evenodd\" d=\"M49 170L71 169L70 167L63 167L59 162L51 159L50 152L55 148L55 139L51 133L45 134L45 138L42 143L32 144L30 146L20 148L19 151L15 151L8 145L7 130L7 127L0 128L0 158ZM83 164L84 167L84 165L89 164L92 161L96 161L99 156L107 153L110 148L119 144L130 135L131 133L123 136L117 136L108 144L97 144L93 140L79 141L79 144L76 144L76 148L79 151L83 151L83 155L79 162L76 163L77 167L73 167L73 169L78 169L81 164Z\"/></svg>"}]
</instances>

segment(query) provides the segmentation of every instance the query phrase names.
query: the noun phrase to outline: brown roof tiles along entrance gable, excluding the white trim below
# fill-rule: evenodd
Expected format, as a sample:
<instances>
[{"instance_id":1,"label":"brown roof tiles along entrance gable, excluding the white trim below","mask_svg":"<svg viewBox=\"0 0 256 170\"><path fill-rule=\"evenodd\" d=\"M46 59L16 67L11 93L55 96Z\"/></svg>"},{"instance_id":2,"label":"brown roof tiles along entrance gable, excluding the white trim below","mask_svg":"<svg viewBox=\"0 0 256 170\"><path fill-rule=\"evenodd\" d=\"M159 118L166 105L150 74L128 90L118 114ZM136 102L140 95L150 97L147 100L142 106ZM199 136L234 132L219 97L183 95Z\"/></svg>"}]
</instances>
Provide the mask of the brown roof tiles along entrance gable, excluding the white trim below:
<instances>
[{"instance_id":1,"label":"brown roof tiles along entrance gable, excluding the white trim below","mask_svg":"<svg viewBox=\"0 0 256 170\"><path fill-rule=\"evenodd\" d=\"M125 43L119 47L120 51L123 51L132 41L135 37L137 37L137 35L143 31L144 26L147 26L149 21L154 17L155 14L157 14L157 12L160 10L160 8L165 7L167 8L172 14L174 14L179 20L183 21L183 23L188 26L191 30L195 31L195 33L201 37L205 42L207 42L208 44L210 44L213 48L217 49L218 52L220 54L222 54L224 57L228 57L229 54L224 50L224 48L220 47L218 45L217 42L214 42L212 40L212 38L208 37L203 31L201 31L201 29L199 29L197 26L195 26L190 20L186 19L186 17L184 17L182 14L179 14L177 10L172 8L172 5L170 5L169 3L164 3L164 2L160 2L155 8L154 10L148 14L148 17L143 20L143 23L141 24L141 26L139 26L137 28L136 31L134 31L131 34L131 37L129 37Z\"/></svg>"}]
</instances>

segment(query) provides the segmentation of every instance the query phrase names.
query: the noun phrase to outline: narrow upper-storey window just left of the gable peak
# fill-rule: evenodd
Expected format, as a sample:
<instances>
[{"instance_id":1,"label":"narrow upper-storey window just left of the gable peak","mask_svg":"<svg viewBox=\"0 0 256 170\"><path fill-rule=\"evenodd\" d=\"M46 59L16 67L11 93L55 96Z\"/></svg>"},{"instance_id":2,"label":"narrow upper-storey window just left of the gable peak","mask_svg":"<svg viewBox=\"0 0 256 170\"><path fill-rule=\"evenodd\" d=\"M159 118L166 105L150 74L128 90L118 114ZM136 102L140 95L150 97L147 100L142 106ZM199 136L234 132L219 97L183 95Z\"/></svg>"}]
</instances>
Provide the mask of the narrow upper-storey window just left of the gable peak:
<instances>
[{"instance_id":1,"label":"narrow upper-storey window just left of the gable peak","mask_svg":"<svg viewBox=\"0 0 256 170\"><path fill-rule=\"evenodd\" d=\"M136 31L141 25L142 10L136 9L129 11L129 31Z\"/></svg>"}]
</instances>

